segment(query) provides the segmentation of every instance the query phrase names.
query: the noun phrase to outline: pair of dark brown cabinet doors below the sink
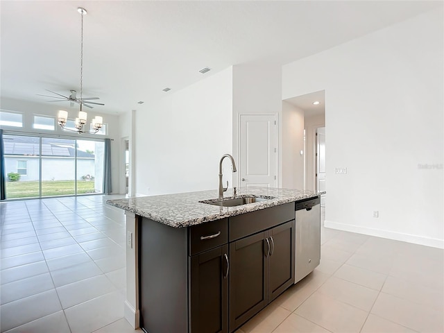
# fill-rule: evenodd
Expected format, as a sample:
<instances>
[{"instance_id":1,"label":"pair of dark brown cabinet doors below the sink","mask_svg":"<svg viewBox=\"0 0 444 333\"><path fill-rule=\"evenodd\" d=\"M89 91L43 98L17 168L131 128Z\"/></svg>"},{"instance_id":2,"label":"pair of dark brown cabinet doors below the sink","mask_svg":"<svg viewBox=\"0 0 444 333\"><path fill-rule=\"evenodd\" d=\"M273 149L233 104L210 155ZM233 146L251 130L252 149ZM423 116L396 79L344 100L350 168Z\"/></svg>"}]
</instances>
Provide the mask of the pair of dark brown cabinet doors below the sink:
<instances>
[{"instance_id":1,"label":"pair of dark brown cabinet doors below the sink","mask_svg":"<svg viewBox=\"0 0 444 333\"><path fill-rule=\"evenodd\" d=\"M294 220L230 243L230 332L294 280Z\"/></svg>"}]
</instances>

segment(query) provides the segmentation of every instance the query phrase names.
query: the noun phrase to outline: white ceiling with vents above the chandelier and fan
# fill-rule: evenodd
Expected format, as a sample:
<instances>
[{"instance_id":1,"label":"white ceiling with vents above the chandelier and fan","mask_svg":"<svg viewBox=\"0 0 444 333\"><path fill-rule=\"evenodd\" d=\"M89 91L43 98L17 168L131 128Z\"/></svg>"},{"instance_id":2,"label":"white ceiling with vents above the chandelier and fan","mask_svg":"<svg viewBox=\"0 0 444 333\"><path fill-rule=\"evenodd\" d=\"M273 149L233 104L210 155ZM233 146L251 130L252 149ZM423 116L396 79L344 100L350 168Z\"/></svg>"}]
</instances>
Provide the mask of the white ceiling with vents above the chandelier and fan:
<instances>
[{"instance_id":1,"label":"white ceiling with vents above the chandelier and fan","mask_svg":"<svg viewBox=\"0 0 444 333\"><path fill-rule=\"evenodd\" d=\"M115 114L146 110L137 102L230 65L284 65L443 2L2 0L2 97L49 103L37 94L79 93L79 6L87 10L83 96L99 96L105 106L94 110ZM212 71L198 73L203 67Z\"/></svg>"}]
</instances>

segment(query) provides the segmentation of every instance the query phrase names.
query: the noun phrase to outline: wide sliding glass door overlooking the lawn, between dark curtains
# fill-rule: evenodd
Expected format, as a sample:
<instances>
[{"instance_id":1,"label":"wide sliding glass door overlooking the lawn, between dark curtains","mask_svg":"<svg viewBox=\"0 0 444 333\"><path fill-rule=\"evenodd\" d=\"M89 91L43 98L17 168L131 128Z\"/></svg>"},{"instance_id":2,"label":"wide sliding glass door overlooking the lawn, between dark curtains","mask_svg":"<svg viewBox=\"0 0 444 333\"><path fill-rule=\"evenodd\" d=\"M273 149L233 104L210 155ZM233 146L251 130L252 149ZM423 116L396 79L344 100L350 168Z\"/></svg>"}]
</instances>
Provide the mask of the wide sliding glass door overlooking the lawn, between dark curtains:
<instances>
[{"instance_id":1,"label":"wide sliding glass door overlooking the lawn, between dark curtains","mask_svg":"<svg viewBox=\"0 0 444 333\"><path fill-rule=\"evenodd\" d=\"M6 198L102 193L103 141L3 135Z\"/></svg>"}]
</instances>

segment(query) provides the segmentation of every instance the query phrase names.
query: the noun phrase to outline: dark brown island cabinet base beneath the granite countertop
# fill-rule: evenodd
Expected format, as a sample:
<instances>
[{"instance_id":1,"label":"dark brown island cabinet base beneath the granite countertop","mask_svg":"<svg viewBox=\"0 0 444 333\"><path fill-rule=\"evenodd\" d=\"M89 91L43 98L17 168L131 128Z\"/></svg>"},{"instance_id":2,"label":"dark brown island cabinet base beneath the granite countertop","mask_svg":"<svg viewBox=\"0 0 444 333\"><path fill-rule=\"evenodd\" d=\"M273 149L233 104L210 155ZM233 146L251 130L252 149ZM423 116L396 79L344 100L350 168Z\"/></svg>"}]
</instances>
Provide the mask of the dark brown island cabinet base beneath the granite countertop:
<instances>
[{"instance_id":1,"label":"dark brown island cabinet base beneath the granite countertop","mask_svg":"<svg viewBox=\"0 0 444 333\"><path fill-rule=\"evenodd\" d=\"M187 228L138 224L146 332L228 333L294 281L294 203Z\"/></svg>"}]
</instances>

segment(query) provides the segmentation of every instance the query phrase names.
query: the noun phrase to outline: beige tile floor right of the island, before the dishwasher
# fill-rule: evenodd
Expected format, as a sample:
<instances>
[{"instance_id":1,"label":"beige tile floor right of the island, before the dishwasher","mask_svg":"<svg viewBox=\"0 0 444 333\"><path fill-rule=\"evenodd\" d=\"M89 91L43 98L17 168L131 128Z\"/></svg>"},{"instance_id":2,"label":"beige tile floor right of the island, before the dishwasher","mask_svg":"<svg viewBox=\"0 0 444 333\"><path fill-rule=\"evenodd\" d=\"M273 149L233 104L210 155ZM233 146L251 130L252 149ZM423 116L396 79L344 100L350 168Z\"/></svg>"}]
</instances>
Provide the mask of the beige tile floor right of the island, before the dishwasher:
<instances>
[{"instance_id":1,"label":"beige tile floor right of the island, before the dishwasher","mask_svg":"<svg viewBox=\"0 0 444 333\"><path fill-rule=\"evenodd\" d=\"M322 228L321 264L237 333L444 332L444 250Z\"/></svg>"}]
</instances>

